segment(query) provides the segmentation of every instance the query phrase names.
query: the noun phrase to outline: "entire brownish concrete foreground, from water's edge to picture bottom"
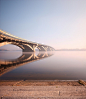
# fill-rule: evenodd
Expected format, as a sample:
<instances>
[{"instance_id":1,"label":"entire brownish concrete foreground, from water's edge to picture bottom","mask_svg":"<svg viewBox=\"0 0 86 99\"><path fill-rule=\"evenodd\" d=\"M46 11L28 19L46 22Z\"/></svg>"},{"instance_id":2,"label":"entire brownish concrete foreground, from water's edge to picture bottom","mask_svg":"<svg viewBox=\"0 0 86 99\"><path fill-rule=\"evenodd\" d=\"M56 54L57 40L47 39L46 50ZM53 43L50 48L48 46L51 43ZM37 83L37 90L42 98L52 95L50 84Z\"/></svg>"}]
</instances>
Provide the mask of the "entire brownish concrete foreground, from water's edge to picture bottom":
<instances>
[{"instance_id":1,"label":"entire brownish concrete foreground, from water's edge to picture bottom","mask_svg":"<svg viewBox=\"0 0 86 99\"><path fill-rule=\"evenodd\" d=\"M0 80L0 99L86 99L86 81Z\"/></svg>"}]
</instances>

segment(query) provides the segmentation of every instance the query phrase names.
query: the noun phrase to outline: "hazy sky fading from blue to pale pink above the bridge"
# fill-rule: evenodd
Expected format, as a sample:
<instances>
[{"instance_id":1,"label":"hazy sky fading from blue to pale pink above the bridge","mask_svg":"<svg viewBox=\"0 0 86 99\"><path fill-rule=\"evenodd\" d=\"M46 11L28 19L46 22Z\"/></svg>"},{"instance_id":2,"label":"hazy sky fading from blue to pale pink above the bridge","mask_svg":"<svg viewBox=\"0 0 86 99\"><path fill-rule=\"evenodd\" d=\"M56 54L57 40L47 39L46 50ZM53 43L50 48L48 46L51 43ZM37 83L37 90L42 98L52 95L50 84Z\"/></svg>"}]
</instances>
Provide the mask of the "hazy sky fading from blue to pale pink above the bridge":
<instances>
[{"instance_id":1,"label":"hazy sky fading from blue to pale pink above the bridge","mask_svg":"<svg viewBox=\"0 0 86 99\"><path fill-rule=\"evenodd\" d=\"M55 49L86 48L86 0L0 0L0 28Z\"/></svg>"}]
</instances>

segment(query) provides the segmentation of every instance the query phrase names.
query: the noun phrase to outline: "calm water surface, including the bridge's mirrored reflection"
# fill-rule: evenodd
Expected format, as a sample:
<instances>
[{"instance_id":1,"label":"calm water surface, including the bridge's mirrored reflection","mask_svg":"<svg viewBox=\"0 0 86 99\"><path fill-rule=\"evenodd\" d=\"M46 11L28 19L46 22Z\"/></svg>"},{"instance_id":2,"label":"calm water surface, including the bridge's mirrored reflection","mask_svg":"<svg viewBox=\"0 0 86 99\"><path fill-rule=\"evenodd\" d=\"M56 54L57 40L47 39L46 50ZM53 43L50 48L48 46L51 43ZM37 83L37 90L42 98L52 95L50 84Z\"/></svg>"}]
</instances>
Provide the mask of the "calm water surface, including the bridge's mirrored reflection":
<instances>
[{"instance_id":1,"label":"calm water surface, including the bridge's mirrored reflection","mask_svg":"<svg viewBox=\"0 0 86 99\"><path fill-rule=\"evenodd\" d=\"M86 51L0 51L0 80L86 80Z\"/></svg>"}]
</instances>

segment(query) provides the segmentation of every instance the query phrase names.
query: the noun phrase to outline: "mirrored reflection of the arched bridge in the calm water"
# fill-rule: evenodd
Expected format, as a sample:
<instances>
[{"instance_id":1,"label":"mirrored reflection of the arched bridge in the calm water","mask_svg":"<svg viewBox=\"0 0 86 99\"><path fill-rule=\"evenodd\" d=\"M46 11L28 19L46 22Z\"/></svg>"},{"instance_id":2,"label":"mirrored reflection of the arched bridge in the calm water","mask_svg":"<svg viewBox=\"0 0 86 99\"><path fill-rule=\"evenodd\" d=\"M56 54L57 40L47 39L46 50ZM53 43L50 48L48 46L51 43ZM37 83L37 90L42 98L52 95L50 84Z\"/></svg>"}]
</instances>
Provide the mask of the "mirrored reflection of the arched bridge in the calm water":
<instances>
[{"instance_id":1,"label":"mirrored reflection of the arched bridge in the calm water","mask_svg":"<svg viewBox=\"0 0 86 99\"><path fill-rule=\"evenodd\" d=\"M35 52L23 52L22 55L14 60L0 60L0 76L27 63L41 60L53 55L53 53L39 52L37 55Z\"/></svg>"}]
</instances>

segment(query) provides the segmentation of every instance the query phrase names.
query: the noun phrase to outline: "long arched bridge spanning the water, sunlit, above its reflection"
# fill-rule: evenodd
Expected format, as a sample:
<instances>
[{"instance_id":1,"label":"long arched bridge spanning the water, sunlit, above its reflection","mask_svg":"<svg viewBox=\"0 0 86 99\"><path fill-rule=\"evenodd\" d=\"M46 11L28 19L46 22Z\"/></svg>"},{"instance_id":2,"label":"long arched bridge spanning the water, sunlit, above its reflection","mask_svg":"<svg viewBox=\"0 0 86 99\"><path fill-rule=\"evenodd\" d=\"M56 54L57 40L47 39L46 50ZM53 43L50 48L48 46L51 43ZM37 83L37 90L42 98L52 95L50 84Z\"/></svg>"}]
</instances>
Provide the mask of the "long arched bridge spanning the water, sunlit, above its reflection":
<instances>
[{"instance_id":1,"label":"long arched bridge spanning the water, sunlit, above its reflection","mask_svg":"<svg viewBox=\"0 0 86 99\"><path fill-rule=\"evenodd\" d=\"M51 46L31 42L19 37L16 37L10 33L0 30L0 47L6 44L13 44L22 49L23 52L34 52L36 48L39 51L54 51L55 49Z\"/></svg>"}]
</instances>

